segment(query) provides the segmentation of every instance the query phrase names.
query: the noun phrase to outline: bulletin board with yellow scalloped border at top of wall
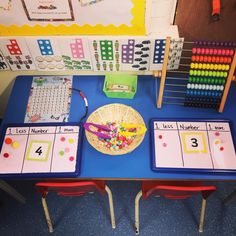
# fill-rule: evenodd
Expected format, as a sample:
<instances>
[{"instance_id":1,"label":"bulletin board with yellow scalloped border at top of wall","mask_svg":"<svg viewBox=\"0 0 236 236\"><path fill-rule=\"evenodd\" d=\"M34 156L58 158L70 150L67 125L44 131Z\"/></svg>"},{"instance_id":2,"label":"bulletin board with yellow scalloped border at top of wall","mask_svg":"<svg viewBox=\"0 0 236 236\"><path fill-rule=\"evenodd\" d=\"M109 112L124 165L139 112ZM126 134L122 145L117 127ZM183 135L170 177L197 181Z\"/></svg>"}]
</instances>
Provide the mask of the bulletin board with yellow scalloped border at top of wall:
<instances>
[{"instance_id":1,"label":"bulletin board with yellow scalloped border at top of wall","mask_svg":"<svg viewBox=\"0 0 236 236\"><path fill-rule=\"evenodd\" d=\"M50 6L48 14L55 14L56 11L60 10L60 2L63 4L68 4L68 16L65 21L55 17L55 19L50 19L50 17L45 20L42 18L34 18L33 13L35 9L43 9L43 7ZM109 2L110 1L110 2ZM112 6L111 2L114 1L116 6ZM7 8L9 0L0 0L0 36L29 36L29 35L145 35L145 0L100 0L96 4L92 5L82 5L79 0L11 0L10 7ZM61 2L61 4L62 4ZM90 1L93 2L93 1ZM37 8L33 4L38 4ZM41 3L44 3L41 4ZM47 3L47 4L45 4ZM28 4L28 6L27 6ZM50 4L50 5L49 5ZM120 7L117 8L117 4ZM123 5L122 5L123 4ZM31 6L29 6L31 5ZM54 7L51 7L51 5ZM114 4L113 4L114 5ZM5 8L1 8L5 6ZM58 7L57 7L58 6ZM105 7L111 7L109 8ZM124 8L127 6L127 9ZM129 8L128 8L129 6ZM27 9L27 10L26 10ZM30 9L31 12L30 12ZM44 8L45 9L45 8ZM78 10L79 9L79 10ZM85 13L81 14L83 11L91 12L91 9L96 12L94 19L100 19L101 23L96 22L96 24L86 23L86 17L81 23L81 16L86 16ZM117 9L120 9L118 15L116 15ZM42 10L41 10L42 11ZM114 13L112 12L114 11ZM112 15L112 17L104 18L103 12ZM32 13L32 14L31 14ZM31 16L31 15L32 16ZM62 14L58 12L57 16ZM121 17L122 14L125 17ZM127 15L130 15L130 19ZM37 16L37 14L35 14ZM38 14L39 15L39 14ZM46 14L45 14L46 15ZM107 15L107 16L108 16ZM99 17L98 17L99 16ZM109 23L109 18L111 21L117 21L119 23L113 24ZM120 19L126 18L126 22L122 23ZM129 23L128 20L129 19ZM95 20L96 21L96 20ZM106 22L106 23L104 23Z\"/></svg>"}]
</instances>

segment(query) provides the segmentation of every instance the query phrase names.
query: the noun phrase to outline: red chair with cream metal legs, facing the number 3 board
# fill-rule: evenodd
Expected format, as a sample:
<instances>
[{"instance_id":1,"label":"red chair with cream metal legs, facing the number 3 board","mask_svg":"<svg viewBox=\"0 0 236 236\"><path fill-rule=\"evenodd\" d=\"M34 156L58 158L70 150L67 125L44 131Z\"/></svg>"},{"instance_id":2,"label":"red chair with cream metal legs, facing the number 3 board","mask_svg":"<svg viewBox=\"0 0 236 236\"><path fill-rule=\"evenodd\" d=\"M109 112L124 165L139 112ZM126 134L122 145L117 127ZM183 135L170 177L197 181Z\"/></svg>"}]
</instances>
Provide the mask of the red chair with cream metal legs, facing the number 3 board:
<instances>
[{"instance_id":1,"label":"red chair with cream metal legs, facing the number 3 board","mask_svg":"<svg viewBox=\"0 0 236 236\"><path fill-rule=\"evenodd\" d=\"M201 182L193 181L142 181L142 190L135 198L135 231L139 234L139 200L146 200L151 195L163 196L168 199L186 199L192 195L202 194L199 232L203 232L206 199L216 190L215 186L204 186Z\"/></svg>"}]
</instances>

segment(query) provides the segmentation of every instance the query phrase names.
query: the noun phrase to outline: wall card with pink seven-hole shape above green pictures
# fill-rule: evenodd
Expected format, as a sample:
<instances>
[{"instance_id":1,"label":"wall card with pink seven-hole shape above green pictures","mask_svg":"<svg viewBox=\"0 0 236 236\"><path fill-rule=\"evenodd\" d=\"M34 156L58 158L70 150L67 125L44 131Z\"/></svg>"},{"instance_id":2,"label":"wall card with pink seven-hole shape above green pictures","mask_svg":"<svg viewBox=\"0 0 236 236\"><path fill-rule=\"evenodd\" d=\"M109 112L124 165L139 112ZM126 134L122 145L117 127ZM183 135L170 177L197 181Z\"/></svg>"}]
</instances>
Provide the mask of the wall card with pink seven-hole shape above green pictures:
<instances>
[{"instance_id":1,"label":"wall card with pink seven-hole shape above green pictures","mask_svg":"<svg viewBox=\"0 0 236 236\"><path fill-rule=\"evenodd\" d=\"M58 37L66 70L92 70L88 39L83 37Z\"/></svg>"}]
</instances>

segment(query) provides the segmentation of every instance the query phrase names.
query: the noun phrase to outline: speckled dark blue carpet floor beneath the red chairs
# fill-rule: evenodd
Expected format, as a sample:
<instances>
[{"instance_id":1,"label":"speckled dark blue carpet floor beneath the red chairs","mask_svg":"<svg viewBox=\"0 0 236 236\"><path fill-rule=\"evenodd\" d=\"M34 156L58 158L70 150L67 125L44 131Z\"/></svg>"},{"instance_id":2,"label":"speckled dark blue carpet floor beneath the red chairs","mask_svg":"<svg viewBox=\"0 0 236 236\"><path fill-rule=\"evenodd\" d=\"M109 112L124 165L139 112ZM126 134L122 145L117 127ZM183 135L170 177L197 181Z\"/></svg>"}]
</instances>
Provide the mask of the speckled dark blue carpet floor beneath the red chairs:
<instances>
[{"instance_id":1,"label":"speckled dark blue carpet floor beneath the red chairs","mask_svg":"<svg viewBox=\"0 0 236 236\"><path fill-rule=\"evenodd\" d=\"M0 190L0 235L50 235L33 181L8 181L27 202L20 204ZM236 202L222 200L236 183L214 183L217 191L208 199L204 232L201 235L236 235ZM140 189L135 181L108 181L113 192L116 229L111 228L107 197L47 198L54 233L51 235L123 236L134 233L134 198ZM140 236L199 235L200 196L187 200L150 198L140 202Z\"/></svg>"}]
</instances>

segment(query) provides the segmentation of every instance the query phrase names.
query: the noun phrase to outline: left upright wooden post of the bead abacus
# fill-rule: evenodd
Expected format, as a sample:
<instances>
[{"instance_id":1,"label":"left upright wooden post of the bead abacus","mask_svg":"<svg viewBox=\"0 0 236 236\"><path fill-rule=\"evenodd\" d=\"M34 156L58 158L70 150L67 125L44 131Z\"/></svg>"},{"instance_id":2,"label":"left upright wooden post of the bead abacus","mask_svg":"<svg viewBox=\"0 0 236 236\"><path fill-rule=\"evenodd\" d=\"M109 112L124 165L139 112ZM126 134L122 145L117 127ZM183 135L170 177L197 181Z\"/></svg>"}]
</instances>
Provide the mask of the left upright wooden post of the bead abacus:
<instances>
[{"instance_id":1,"label":"left upright wooden post of the bead abacus","mask_svg":"<svg viewBox=\"0 0 236 236\"><path fill-rule=\"evenodd\" d=\"M165 80L166 80L166 72L167 72L167 65L168 65L168 55L170 50L170 37L166 38L166 47L165 47L165 54L164 54L164 60L163 60L163 66L161 71L161 82L160 82L160 88L159 88L159 94L157 99L157 107L161 108L162 100L163 100L163 93L165 88Z\"/></svg>"}]
</instances>

